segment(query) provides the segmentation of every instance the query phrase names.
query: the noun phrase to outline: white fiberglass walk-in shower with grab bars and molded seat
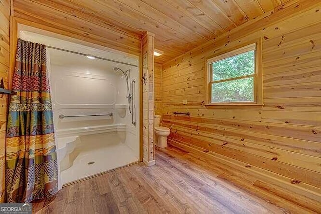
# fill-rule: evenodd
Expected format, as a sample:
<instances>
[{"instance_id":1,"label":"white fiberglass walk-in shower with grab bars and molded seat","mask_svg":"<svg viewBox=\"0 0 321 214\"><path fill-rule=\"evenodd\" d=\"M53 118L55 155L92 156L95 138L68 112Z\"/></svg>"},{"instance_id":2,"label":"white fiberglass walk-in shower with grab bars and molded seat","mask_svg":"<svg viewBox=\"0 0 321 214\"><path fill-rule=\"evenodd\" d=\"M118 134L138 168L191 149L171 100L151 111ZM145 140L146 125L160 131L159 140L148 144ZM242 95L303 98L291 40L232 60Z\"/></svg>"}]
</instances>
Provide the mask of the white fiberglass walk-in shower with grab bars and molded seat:
<instances>
[{"instance_id":1,"label":"white fiberglass walk-in shower with grab bars and molded seat","mask_svg":"<svg viewBox=\"0 0 321 214\"><path fill-rule=\"evenodd\" d=\"M24 40L52 47L47 67L59 186L138 162L139 57L29 26L19 25L18 32Z\"/></svg>"}]
</instances>

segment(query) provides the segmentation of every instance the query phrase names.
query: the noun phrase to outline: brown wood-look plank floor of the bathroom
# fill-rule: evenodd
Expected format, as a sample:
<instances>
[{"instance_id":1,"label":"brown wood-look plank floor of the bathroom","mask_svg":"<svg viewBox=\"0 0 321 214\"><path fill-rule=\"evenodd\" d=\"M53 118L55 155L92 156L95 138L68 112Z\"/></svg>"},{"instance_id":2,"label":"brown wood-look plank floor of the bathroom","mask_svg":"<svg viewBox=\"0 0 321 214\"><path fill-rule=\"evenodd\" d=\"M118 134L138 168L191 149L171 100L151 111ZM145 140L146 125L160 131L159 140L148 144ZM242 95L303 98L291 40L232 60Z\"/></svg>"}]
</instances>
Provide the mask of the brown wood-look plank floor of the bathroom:
<instances>
[{"instance_id":1,"label":"brown wood-look plank floor of the bathroom","mask_svg":"<svg viewBox=\"0 0 321 214\"><path fill-rule=\"evenodd\" d=\"M33 203L33 213L312 213L274 193L228 181L248 174L223 168L214 160L175 147L156 149L156 165L117 169L64 187L55 198ZM282 201L283 200L283 201ZM282 204L282 205L275 205ZM282 206L282 207L280 207Z\"/></svg>"}]
</instances>

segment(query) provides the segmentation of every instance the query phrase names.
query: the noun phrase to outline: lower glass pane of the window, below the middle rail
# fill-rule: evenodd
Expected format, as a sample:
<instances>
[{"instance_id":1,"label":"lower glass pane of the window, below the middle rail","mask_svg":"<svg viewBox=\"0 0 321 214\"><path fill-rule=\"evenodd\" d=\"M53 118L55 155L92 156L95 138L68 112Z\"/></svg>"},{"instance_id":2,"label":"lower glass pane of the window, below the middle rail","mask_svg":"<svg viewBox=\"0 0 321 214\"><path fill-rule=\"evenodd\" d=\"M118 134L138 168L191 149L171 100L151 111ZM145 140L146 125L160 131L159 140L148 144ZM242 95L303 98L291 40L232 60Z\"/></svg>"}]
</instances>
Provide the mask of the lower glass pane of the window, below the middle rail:
<instances>
[{"instance_id":1,"label":"lower glass pane of the window, below the middle rail","mask_svg":"<svg viewBox=\"0 0 321 214\"><path fill-rule=\"evenodd\" d=\"M212 84L212 103L254 102L254 78Z\"/></svg>"}]
</instances>

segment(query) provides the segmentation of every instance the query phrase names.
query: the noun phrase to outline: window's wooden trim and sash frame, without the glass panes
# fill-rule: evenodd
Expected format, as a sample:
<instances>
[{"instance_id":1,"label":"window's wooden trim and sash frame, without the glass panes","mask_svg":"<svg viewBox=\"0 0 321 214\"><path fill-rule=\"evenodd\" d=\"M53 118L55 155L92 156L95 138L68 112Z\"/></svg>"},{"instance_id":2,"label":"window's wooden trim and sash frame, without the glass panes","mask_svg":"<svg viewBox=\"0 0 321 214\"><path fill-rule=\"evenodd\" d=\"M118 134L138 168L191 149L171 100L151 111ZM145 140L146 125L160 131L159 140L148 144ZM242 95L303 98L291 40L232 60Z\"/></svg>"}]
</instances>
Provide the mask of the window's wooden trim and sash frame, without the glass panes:
<instances>
[{"instance_id":1,"label":"window's wooden trim and sash frame, without the glass panes","mask_svg":"<svg viewBox=\"0 0 321 214\"><path fill-rule=\"evenodd\" d=\"M219 81L213 81L213 66L212 63L215 63L217 61L233 57L235 55L239 55L248 51L255 50L255 71L254 74L242 76L242 77L235 77L230 78L228 80L219 80ZM262 108L263 106L263 78L262 78L262 42L261 38L251 41L249 43L238 45L237 47L234 47L232 49L227 49L224 52L221 52L215 56L212 56L206 60L206 68L207 68L207 107L245 107L245 108ZM254 101L253 102L212 102L212 84L213 83L219 83L219 82L226 82L231 80L237 80L237 79L244 79L245 77L253 77L254 78Z\"/></svg>"}]
</instances>

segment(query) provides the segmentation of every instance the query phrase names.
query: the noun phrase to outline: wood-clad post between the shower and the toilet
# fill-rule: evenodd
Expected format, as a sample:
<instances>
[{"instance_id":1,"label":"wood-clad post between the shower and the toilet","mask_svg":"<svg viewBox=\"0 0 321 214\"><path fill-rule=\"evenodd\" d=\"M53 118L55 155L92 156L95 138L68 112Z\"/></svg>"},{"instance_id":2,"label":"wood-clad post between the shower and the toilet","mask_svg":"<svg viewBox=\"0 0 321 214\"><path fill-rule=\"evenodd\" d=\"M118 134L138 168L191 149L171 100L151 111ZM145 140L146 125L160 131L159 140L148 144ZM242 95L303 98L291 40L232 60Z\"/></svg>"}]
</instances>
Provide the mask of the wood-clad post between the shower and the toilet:
<instances>
[{"instance_id":1,"label":"wood-clad post between the shower and the toilet","mask_svg":"<svg viewBox=\"0 0 321 214\"><path fill-rule=\"evenodd\" d=\"M155 164L154 148L154 35L142 37L143 162Z\"/></svg>"}]
</instances>

